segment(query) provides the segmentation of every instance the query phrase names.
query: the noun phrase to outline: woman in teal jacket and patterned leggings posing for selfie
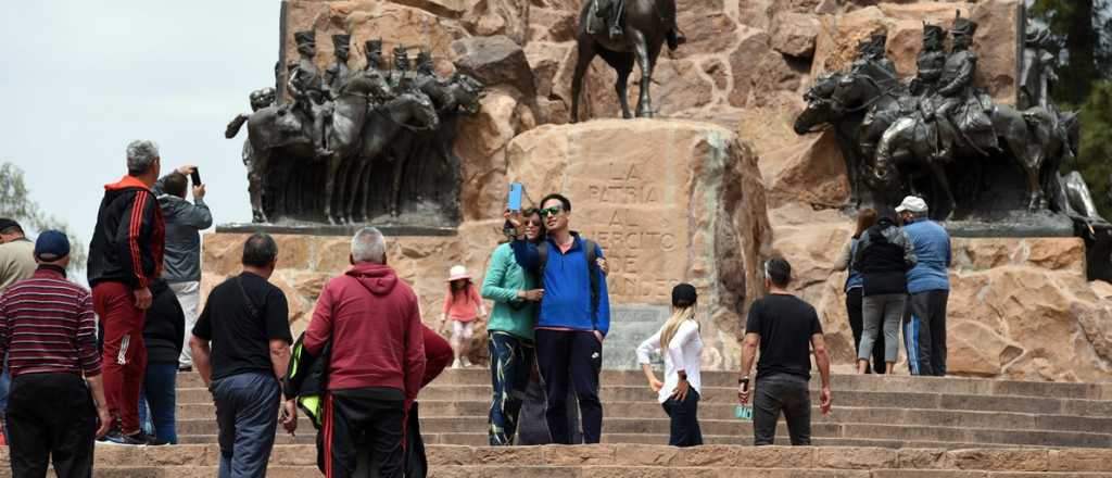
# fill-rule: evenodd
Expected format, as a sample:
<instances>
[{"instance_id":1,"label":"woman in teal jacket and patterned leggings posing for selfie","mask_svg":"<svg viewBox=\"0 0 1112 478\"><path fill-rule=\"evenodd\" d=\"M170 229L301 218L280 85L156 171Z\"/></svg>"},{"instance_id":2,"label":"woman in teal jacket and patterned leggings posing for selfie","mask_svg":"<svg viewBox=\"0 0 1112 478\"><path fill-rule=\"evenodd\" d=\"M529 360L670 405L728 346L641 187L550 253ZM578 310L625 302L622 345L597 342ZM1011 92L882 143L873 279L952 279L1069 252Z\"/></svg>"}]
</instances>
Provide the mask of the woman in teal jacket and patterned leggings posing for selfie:
<instances>
[{"instance_id":1,"label":"woman in teal jacket and patterned leggings posing for selfie","mask_svg":"<svg viewBox=\"0 0 1112 478\"><path fill-rule=\"evenodd\" d=\"M544 222L537 210L526 210L524 218L523 227L528 240L544 240ZM536 276L517 265L514 250L509 242L505 242L495 248L490 257L481 295L494 300L487 325L490 381L494 386L488 430L490 445L513 445L522 397L529 385L536 356L533 327L536 323L536 303L544 296L544 290L537 288Z\"/></svg>"}]
</instances>

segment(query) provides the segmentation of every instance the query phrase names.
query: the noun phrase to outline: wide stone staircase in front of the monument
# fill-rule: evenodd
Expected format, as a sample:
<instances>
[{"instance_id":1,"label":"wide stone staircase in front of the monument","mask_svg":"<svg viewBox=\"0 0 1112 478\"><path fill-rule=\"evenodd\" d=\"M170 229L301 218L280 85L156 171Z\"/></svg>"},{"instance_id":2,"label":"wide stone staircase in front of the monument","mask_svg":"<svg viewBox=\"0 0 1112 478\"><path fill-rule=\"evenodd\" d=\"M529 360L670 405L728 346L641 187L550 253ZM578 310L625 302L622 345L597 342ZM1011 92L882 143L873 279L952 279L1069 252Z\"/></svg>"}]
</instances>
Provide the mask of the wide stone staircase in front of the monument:
<instances>
[{"instance_id":1,"label":"wide stone staircase in front of the monument","mask_svg":"<svg viewBox=\"0 0 1112 478\"><path fill-rule=\"evenodd\" d=\"M448 370L420 396L430 476L1112 478L1112 385L835 376L833 412L814 411L816 447L753 448L752 425L733 418L735 377L704 375L703 447L662 446L668 422L641 372L607 370L603 445L490 448L488 372ZM95 475L216 476L214 417L199 377L179 375L178 434L187 445L99 445ZM268 476L319 476L314 439L304 418L296 438L279 435ZM777 442L787 442L783 426Z\"/></svg>"}]
</instances>

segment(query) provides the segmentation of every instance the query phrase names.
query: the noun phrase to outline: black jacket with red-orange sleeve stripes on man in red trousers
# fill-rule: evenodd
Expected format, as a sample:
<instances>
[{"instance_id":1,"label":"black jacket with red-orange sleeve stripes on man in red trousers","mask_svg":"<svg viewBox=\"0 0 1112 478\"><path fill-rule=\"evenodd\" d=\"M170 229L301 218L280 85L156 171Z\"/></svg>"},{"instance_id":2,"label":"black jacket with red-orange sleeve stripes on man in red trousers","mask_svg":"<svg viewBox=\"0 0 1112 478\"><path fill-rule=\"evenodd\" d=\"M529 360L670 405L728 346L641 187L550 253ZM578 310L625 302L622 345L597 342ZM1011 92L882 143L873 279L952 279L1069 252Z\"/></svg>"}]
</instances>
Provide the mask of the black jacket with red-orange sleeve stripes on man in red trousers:
<instances>
[{"instance_id":1,"label":"black jacket with red-orange sleeve stripes on man in red trousers","mask_svg":"<svg viewBox=\"0 0 1112 478\"><path fill-rule=\"evenodd\" d=\"M149 287L162 271L166 225L155 193L131 176L105 186L89 245L89 286Z\"/></svg>"}]
</instances>

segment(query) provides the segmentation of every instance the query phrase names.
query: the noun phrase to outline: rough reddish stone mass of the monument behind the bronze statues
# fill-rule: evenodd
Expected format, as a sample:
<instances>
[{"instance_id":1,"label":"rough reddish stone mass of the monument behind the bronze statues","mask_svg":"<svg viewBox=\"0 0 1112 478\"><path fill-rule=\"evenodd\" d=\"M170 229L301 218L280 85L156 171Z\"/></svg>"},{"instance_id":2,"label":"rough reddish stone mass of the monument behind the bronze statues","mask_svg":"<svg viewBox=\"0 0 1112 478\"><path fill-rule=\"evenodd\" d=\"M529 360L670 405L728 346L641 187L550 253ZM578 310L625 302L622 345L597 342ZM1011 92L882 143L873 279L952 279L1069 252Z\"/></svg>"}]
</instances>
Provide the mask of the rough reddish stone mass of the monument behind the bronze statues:
<instances>
[{"instance_id":1,"label":"rough reddish stone mass of the monument behind the bronze statues","mask_svg":"<svg viewBox=\"0 0 1112 478\"><path fill-rule=\"evenodd\" d=\"M641 1L598 1L597 8L613 14ZM933 96L953 51L950 32L955 9L962 19L977 24L969 49L977 59L972 84L997 104L1012 108L1021 90L1035 91L1030 90L1035 83L1021 80L1030 73L1021 76L1024 70L1020 68L1026 56L1022 0L872 6L677 2L677 40L679 28L691 36L683 48L656 56L651 110L657 119L597 120L615 117L623 101L614 93L617 71L602 61L577 68L583 8L593 3L282 2L281 58L276 71L280 88L272 94L275 104L265 92L252 94L254 112L237 117L241 123L236 129L247 125L250 136L251 122L274 122L277 110L286 108L295 120L290 122L299 128L284 133L287 142L278 147L266 141L259 146L269 152L284 150L288 156L282 158L292 161L282 159L270 169L259 168L260 160L279 156L256 152L259 148L254 140L245 145L250 170L261 178L252 181L252 200L259 199L256 209L270 223L218 228L207 235L202 287L207 290L237 270L247 232L284 232L276 236L280 259L272 280L289 297L292 328L304 329L325 281L347 268L348 238L331 235L361 222L366 202L366 219L386 225L389 263L414 286L431 320L441 306L450 266L464 263L481 280L490 251L503 238L507 185L519 181L533 200L549 191L568 195L576 205L573 228L598 241L610 260L607 281L614 317L604 348L606 367L633 366L633 347L667 315L665 291L683 280L699 288L705 368L736 369L736 343L747 307L763 293L755 265L776 252L792 260L797 278L794 290L818 310L835 370L848 371L854 353L841 290L845 276L833 271L832 262L852 232L852 217L844 212L847 203L855 202L851 185L863 185L862 201L875 200L866 182L875 176L871 173L873 158L884 130L871 129L870 133L877 135L875 142L844 145L840 145L843 128L796 135L795 119L807 108L801 98L808 91L813 98L833 93L837 82L830 83L830 91L812 88L824 74L883 80L886 88L882 90L895 88L898 98L907 98L903 90L921 77L922 84L907 91L915 94L910 98ZM618 10L613 10L615 6ZM593 38L603 37L600 43L615 44L631 31L622 17L617 22L613 16L602 19L589 28ZM924 22L941 31L931 29L931 39L924 39ZM622 31L610 40L614 24ZM434 114L427 110L420 114L419 100L404 100L411 108L410 126L419 129L436 121L436 129L407 129L404 135L409 139L390 141L379 156L355 156L355 162L339 163L338 177L345 178L339 182L350 185L350 179L366 175L366 182L356 181L350 207L346 206L353 201L350 192L339 189L331 200L324 199L329 162L314 156L316 145L306 114L312 108L290 106L294 93L288 91L287 66L292 62L295 70L300 68L294 33L302 31L329 40L317 42L318 51L311 56L321 77L344 63L351 80L340 91L359 94L334 98L332 93L324 104L312 103L330 114L324 117L332 131L322 135L325 149L339 151L348 146L341 133L353 130L334 128L342 123L335 118L350 118L345 114L358 111L364 98L367 111L374 110L373 104L401 98L390 96L396 94L391 80L405 83L411 97L420 98L419 92L433 104ZM945 39L934 44L940 33ZM335 36L350 39L337 42ZM930 42L934 49L921 56ZM336 54L344 46L350 49L346 62ZM396 51L398 59L409 60L403 74L391 61ZM636 63L636 59L629 61ZM573 96L577 70L582 70L582 89ZM627 102L637 100L632 92L629 97ZM440 109L454 99L456 114L444 114ZM568 125L576 100L577 119L585 122ZM884 101L885 111L891 108L902 114L919 109L917 100L914 104ZM864 109L852 113L860 113L854 118L857 125L865 122ZM370 118L364 122L381 123ZM868 125L880 129L882 123L874 118ZM840 148L846 145L858 155L855 167L848 161L851 153L843 155L850 150ZM399 162L406 166L396 176ZM1012 181L1010 207L1029 215L1025 171L1001 162L1004 169L1011 175L1005 179ZM286 172L295 170L300 172ZM398 188L396 177L400 178ZM930 179L923 178L916 181ZM962 206L962 186L953 192ZM456 202L441 207L446 197ZM1045 197L1048 210L1053 211L1058 193ZM1084 215L1081 199L1071 205ZM391 217L395 205L396 218ZM350 223L327 226L328 216ZM1072 217L1048 216L1065 226L1054 230L1069 231L1059 237L954 240L949 319L952 374L1109 380L1112 286L1085 280L1084 270L1091 263L1085 256L1095 249L1086 249L1085 240L1074 236ZM316 228L298 227L307 223ZM476 336L483 337L479 330Z\"/></svg>"}]
</instances>

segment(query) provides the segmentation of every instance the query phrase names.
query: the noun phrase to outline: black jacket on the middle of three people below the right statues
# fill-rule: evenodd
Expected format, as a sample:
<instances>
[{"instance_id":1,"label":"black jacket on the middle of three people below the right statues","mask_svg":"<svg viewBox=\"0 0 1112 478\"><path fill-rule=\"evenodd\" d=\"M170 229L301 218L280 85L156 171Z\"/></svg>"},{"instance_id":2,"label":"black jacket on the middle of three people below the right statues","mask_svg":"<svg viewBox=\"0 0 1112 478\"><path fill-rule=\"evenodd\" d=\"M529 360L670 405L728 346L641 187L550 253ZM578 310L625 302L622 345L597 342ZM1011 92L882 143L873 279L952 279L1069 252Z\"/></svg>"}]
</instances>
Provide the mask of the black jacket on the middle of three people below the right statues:
<instances>
[{"instance_id":1,"label":"black jacket on the middle of three people below the right statues","mask_svg":"<svg viewBox=\"0 0 1112 478\"><path fill-rule=\"evenodd\" d=\"M862 295L907 293L907 271L916 261L907 233L881 218L861 235L853 258L853 268L862 275Z\"/></svg>"}]
</instances>

